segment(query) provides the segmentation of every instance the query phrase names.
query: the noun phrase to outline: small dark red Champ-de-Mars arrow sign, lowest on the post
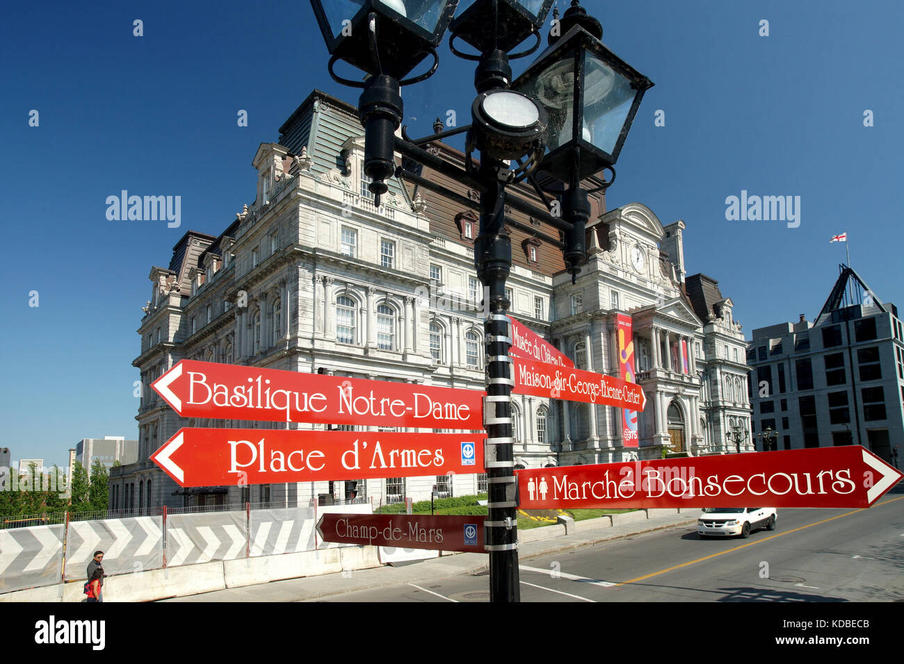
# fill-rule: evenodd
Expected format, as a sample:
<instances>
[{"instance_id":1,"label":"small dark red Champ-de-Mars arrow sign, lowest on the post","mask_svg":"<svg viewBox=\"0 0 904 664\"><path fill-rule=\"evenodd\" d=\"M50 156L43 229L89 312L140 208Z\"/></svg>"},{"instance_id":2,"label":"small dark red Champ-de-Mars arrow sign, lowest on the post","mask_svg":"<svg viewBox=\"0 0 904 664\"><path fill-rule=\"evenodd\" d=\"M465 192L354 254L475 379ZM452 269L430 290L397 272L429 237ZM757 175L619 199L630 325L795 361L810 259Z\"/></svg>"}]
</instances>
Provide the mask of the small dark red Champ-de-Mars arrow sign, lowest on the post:
<instances>
[{"instance_id":1,"label":"small dark red Champ-de-Mars arrow sign, lowest on the post","mask_svg":"<svg viewBox=\"0 0 904 664\"><path fill-rule=\"evenodd\" d=\"M317 532L340 544L486 553L484 517L330 512L317 521Z\"/></svg>"}]
</instances>

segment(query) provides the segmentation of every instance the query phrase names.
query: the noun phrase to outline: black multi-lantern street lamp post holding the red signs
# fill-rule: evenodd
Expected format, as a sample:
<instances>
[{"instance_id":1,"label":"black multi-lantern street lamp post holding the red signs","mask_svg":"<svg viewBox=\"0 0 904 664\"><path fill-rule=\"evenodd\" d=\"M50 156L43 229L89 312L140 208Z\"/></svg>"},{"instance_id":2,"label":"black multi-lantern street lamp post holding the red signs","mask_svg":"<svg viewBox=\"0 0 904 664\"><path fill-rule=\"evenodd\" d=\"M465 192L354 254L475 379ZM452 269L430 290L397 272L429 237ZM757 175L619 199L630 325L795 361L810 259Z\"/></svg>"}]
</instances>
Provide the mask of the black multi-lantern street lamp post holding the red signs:
<instances>
[{"instance_id":1,"label":"black multi-lantern street lamp post holding the red signs","mask_svg":"<svg viewBox=\"0 0 904 664\"><path fill-rule=\"evenodd\" d=\"M527 230L561 248L572 283L585 258L589 193L605 190L615 177L613 166L624 145L637 107L653 83L603 46L602 27L572 0L553 24L549 48L518 80L509 61L540 46L539 29L553 0L311 0L327 49L330 75L362 88L359 117L364 127L364 172L368 189L380 206L386 179L400 176L480 212L475 267L485 292L485 468L489 514L485 547L490 562L490 599L520 601L517 552L517 487L511 394L512 344L505 282L512 267L512 242L506 226ZM460 6L459 6L460 5ZM459 9L456 15L456 10ZM447 29L449 48L476 61L477 97L468 126L410 139L402 129L400 89L432 76L438 68L436 47ZM526 51L511 53L532 38ZM478 53L460 51L456 40ZM432 56L429 70L409 76ZM363 70L364 81L334 72L337 61ZM466 133L466 168L450 164L422 145ZM472 154L480 154L473 167ZM411 173L395 163L395 153L427 166L479 193L470 201L457 192ZM581 182L609 169L612 176L596 189ZM508 185L528 181L546 209L507 196ZM560 231L559 238L525 228L505 217L519 210ZM556 212L553 214L553 212Z\"/></svg>"}]
</instances>

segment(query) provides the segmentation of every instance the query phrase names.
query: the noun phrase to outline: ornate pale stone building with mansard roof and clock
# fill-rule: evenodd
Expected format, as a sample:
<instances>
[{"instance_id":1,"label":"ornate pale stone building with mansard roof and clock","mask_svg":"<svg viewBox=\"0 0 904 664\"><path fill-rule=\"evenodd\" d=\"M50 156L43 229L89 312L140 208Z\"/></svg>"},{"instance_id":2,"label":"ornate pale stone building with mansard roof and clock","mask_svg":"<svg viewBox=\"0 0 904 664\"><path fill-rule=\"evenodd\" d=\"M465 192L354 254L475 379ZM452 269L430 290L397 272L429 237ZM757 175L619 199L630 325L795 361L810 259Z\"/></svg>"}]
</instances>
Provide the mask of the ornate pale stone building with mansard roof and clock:
<instances>
[{"instance_id":1,"label":"ornate pale stone building with mansard roof and clock","mask_svg":"<svg viewBox=\"0 0 904 664\"><path fill-rule=\"evenodd\" d=\"M112 470L111 486L123 487L111 491L117 496L112 507L306 504L342 499L352 486L378 500L422 500L433 485L444 495L485 491L482 475L183 491L147 460L181 426L272 426L175 416L148 386L184 358L484 387L476 212L399 180L387 182L390 191L375 206L363 173L356 110L325 93L306 98L279 133L278 143L263 143L254 155L255 200L223 224L219 235L185 233L166 267L151 269L152 295L134 361L144 386L138 461ZM458 164L465 158L449 145L429 150ZM476 201L476 192L417 168L422 177ZM515 195L541 205L528 188ZM648 399L639 418L640 447L622 446L617 409L515 396L516 463L538 467L638 454L658 458L664 450L723 452L718 436L730 418L749 428L746 392L731 383L729 395L722 387L723 377L744 379L743 362L717 357L722 346L743 348L730 300L709 277L685 278L683 221L663 227L639 203L607 211L600 194L591 204L589 257L575 285L560 250L531 232L557 231L507 210L516 224L510 230L510 313L580 367L610 374L618 366L615 317L633 317L637 379ZM689 288L704 281L706 288Z\"/></svg>"}]
</instances>

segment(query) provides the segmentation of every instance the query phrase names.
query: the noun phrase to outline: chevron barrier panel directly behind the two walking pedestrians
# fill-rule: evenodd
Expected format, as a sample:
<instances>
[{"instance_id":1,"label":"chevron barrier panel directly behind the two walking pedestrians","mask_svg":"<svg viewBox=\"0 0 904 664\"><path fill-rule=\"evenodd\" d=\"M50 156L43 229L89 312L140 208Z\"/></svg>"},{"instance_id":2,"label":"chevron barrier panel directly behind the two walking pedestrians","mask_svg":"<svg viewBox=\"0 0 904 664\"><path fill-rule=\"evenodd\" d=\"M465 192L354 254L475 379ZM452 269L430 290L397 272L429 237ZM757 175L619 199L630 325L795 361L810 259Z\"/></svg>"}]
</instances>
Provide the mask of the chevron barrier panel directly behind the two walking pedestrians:
<instances>
[{"instance_id":1,"label":"chevron barrier panel directly behind the two walking pedestrians","mask_svg":"<svg viewBox=\"0 0 904 664\"><path fill-rule=\"evenodd\" d=\"M104 552L104 572L127 574L163 566L163 517L70 521L66 579L83 579L95 551Z\"/></svg>"}]
</instances>

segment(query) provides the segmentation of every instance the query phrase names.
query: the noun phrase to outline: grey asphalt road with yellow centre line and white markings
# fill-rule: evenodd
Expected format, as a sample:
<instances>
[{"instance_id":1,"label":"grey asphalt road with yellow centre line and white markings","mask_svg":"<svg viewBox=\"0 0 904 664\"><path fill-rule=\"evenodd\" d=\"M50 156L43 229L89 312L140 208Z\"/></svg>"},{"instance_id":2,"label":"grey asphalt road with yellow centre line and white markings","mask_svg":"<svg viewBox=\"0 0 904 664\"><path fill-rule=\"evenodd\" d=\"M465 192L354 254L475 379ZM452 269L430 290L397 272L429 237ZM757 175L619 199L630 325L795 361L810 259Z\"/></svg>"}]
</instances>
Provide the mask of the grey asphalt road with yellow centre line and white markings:
<instances>
[{"instance_id":1,"label":"grey asphalt road with yellow centre line and white markings","mask_svg":"<svg viewBox=\"0 0 904 664\"><path fill-rule=\"evenodd\" d=\"M522 560L523 602L904 600L904 487L869 510L779 510L775 532L701 539L682 526ZM329 602L485 602L485 575Z\"/></svg>"}]
</instances>

